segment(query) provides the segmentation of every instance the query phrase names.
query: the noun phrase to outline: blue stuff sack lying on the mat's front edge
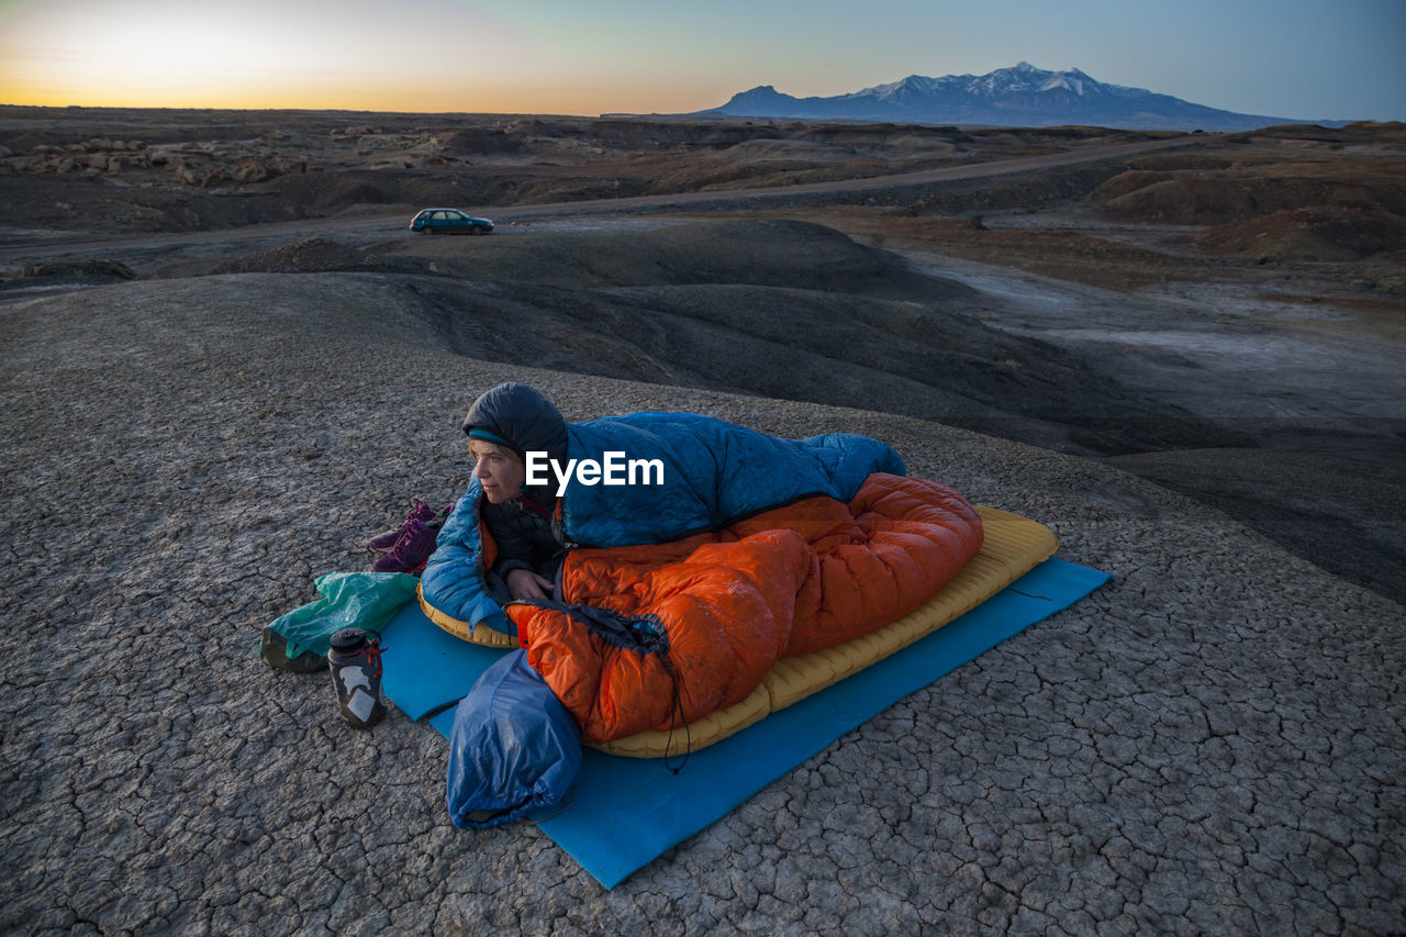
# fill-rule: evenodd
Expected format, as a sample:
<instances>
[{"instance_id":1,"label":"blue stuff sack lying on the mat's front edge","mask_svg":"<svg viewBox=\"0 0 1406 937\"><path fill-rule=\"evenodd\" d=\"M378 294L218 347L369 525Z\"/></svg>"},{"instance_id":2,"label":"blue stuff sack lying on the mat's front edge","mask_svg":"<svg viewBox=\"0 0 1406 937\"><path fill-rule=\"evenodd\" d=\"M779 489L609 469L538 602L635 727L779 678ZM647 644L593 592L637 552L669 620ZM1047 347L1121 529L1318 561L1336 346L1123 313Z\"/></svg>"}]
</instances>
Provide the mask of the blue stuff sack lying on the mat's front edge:
<instances>
[{"instance_id":1,"label":"blue stuff sack lying on the mat's front edge","mask_svg":"<svg viewBox=\"0 0 1406 937\"><path fill-rule=\"evenodd\" d=\"M505 654L458 702L449 740L447 803L460 829L544 820L581 775L581 727L527 663Z\"/></svg>"}]
</instances>

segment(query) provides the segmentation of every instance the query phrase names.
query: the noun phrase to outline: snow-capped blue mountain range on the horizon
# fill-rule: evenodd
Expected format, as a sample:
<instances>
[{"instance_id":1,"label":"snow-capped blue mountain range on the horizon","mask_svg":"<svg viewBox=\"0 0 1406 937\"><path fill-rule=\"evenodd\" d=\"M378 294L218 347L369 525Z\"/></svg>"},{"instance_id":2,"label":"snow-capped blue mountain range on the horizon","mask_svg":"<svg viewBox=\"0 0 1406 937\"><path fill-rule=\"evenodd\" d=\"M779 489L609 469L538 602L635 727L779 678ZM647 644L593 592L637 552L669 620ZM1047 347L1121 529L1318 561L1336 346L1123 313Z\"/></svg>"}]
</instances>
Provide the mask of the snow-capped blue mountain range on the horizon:
<instances>
[{"instance_id":1,"label":"snow-capped blue mountain range on the horizon","mask_svg":"<svg viewBox=\"0 0 1406 937\"><path fill-rule=\"evenodd\" d=\"M901 82L835 97L792 97L770 84L762 84L734 94L727 104L702 114L1000 127L1092 124L1125 129L1208 131L1240 131L1295 122L1284 117L1222 111L1140 87L1105 84L1078 69L1046 72L1028 62L986 75L910 75Z\"/></svg>"}]
</instances>

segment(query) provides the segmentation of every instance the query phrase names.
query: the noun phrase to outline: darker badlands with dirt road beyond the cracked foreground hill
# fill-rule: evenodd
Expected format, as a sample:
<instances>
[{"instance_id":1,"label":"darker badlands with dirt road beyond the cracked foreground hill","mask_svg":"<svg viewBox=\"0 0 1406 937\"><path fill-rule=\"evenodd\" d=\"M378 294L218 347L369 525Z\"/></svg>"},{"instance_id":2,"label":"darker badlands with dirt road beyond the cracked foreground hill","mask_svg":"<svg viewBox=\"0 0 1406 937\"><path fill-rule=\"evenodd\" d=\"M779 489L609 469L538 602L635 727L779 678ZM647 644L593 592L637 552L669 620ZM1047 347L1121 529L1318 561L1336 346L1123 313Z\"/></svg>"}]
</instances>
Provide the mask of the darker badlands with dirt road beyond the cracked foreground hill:
<instances>
[{"instance_id":1,"label":"darker badlands with dirt road beyond the cracked foreground hill","mask_svg":"<svg viewBox=\"0 0 1406 937\"><path fill-rule=\"evenodd\" d=\"M375 277L471 357L1109 459L1403 599L1403 148L1395 124L8 107L0 297ZM498 234L412 238L439 204Z\"/></svg>"}]
</instances>

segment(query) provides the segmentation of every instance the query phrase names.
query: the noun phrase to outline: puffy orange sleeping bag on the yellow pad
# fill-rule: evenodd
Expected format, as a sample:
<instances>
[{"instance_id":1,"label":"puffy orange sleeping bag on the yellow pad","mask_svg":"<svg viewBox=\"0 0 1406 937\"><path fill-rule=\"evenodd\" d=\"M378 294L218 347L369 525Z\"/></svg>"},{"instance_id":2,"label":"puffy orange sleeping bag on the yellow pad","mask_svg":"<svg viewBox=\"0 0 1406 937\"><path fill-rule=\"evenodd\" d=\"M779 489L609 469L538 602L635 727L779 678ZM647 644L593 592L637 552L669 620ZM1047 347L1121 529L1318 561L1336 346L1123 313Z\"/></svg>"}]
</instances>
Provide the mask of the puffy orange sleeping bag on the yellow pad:
<instances>
[{"instance_id":1,"label":"puffy orange sleeping bag on the yellow pad","mask_svg":"<svg viewBox=\"0 0 1406 937\"><path fill-rule=\"evenodd\" d=\"M571 606L513 602L527 661L600 743L668 732L751 694L780 657L832 647L921 608L981 547L981 522L935 481L875 473L853 501L807 498L665 544L581 549Z\"/></svg>"}]
</instances>

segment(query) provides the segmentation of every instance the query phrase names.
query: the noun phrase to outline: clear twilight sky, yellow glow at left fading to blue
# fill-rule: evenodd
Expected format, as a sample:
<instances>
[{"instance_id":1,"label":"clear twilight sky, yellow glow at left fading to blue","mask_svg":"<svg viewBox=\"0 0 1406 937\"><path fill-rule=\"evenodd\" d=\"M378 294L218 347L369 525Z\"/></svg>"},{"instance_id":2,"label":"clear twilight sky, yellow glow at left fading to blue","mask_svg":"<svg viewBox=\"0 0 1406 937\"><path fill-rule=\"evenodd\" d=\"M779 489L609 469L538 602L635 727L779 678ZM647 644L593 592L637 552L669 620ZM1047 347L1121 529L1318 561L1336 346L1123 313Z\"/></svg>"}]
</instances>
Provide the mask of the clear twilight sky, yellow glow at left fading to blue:
<instances>
[{"instance_id":1,"label":"clear twilight sky, yellow glow at left fading to blue","mask_svg":"<svg viewBox=\"0 0 1406 937\"><path fill-rule=\"evenodd\" d=\"M0 103L683 113L1025 60L1406 120L1406 0L0 0Z\"/></svg>"}]
</instances>

